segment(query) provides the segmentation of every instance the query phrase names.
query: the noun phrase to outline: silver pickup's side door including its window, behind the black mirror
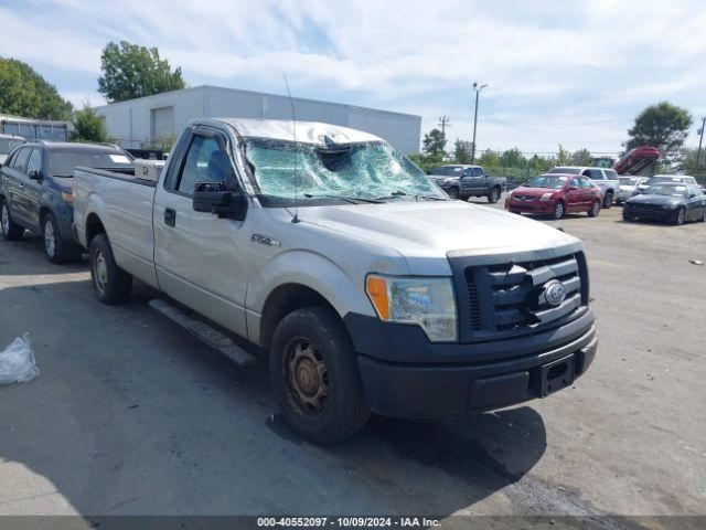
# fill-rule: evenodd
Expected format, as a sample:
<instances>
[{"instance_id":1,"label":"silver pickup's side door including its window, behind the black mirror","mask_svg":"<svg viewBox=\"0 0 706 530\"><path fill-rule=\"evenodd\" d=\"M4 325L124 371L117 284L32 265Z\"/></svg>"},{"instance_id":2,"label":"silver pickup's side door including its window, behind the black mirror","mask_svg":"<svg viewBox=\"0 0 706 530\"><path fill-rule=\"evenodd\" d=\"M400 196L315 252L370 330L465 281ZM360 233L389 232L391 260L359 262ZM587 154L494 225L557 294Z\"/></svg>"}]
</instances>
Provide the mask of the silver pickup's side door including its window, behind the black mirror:
<instances>
[{"instance_id":1,"label":"silver pickup's side door including its window, behind the black mirror","mask_svg":"<svg viewBox=\"0 0 706 530\"><path fill-rule=\"evenodd\" d=\"M225 328L247 337L245 294L248 236L245 221L196 212L196 182L237 189L229 140L196 127L180 142L154 195L154 264L160 288Z\"/></svg>"}]
</instances>

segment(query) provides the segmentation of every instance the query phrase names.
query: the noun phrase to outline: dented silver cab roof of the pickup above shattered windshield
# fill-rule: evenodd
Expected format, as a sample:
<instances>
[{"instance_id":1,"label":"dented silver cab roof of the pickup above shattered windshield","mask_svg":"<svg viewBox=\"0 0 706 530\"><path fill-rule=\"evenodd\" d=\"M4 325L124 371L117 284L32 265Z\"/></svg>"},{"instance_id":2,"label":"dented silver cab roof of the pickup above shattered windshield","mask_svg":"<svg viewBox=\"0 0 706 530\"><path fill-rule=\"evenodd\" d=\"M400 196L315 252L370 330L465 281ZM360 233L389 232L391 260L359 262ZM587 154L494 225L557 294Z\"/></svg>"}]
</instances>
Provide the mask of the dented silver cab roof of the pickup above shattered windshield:
<instances>
[{"instance_id":1,"label":"dented silver cab roof of the pickup above shattered windshield","mask_svg":"<svg viewBox=\"0 0 706 530\"><path fill-rule=\"evenodd\" d=\"M351 129L340 125L322 124L320 121L297 120L296 136L292 120L257 119L257 118L213 118L226 123L243 137L272 138L278 140L301 141L303 144L324 145L324 137L332 138L336 144L357 141L383 141L382 138Z\"/></svg>"}]
</instances>

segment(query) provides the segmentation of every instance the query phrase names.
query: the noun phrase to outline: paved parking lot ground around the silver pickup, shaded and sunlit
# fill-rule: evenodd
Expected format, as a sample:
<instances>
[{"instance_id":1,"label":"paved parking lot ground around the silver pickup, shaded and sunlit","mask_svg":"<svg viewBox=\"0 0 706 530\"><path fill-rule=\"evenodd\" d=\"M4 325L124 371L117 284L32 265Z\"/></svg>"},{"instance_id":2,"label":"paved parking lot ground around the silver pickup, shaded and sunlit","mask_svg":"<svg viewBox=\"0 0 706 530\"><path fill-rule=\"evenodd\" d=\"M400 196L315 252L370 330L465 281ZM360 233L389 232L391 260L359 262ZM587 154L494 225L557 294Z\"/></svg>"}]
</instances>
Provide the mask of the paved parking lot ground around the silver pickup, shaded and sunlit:
<instances>
[{"instance_id":1,"label":"paved parking lot ground around the silver pickup, shaded and sunlit","mask_svg":"<svg viewBox=\"0 0 706 530\"><path fill-rule=\"evenodd\" d=\"M706 266L689 259L706 226L620 214L543 221L589 256L599 351L571 389L460 421L374 417L334 447L291 434L266 367L238 370L147 287L104 306L87 264L0 241L0 344L29 331L41 369L0 388L0 515L704 513Z\"/></svg>"}]
</instances>

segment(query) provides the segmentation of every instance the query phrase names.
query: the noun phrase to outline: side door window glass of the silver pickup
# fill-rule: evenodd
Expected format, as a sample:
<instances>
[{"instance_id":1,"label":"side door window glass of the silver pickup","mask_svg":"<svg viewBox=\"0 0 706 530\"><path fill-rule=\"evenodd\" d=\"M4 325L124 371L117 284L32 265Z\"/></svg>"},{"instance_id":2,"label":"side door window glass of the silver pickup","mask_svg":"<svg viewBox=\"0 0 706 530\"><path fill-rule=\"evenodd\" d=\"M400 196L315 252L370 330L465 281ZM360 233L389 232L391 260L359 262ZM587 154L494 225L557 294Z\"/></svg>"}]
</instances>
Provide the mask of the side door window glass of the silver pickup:
<instances>
[{"instance_id":1,"label":"side door window glass of the silver pickup","mask_svg":"<svg viewBox=\"0 0 706 530\"><path fill-rule=\"evenodd\" d=\"M224 144L224 142L223 142ZM233 181L231 157L218 137L194 135L186 152L176 189L193 194L196 182Z\"/></svg>"}]
</instances>

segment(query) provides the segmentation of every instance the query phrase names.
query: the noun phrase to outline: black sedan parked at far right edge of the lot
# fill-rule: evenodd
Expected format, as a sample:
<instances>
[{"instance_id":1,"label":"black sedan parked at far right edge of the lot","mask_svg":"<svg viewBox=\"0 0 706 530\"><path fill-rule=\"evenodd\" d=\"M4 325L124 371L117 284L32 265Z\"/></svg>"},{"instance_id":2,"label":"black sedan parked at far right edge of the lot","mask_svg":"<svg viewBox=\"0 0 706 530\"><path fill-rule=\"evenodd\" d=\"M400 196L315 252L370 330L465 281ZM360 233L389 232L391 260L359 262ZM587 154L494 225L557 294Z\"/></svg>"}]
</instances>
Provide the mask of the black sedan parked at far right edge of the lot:
<instances>
[{"instance_id":1,"label":"black sedan parked at far right edge of the lot","mask_svg":"<svg viewBox=\"0 0 706 530\"><path fill-rule=\"evenodd\" d=\"M622 218L625 221L645 219L672 224L682 224L684 221L706 222L706 195L696 184L654 184L625 201Z\"/></svg>"}]
</instances>

